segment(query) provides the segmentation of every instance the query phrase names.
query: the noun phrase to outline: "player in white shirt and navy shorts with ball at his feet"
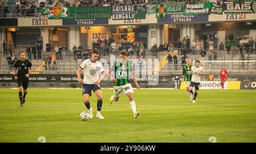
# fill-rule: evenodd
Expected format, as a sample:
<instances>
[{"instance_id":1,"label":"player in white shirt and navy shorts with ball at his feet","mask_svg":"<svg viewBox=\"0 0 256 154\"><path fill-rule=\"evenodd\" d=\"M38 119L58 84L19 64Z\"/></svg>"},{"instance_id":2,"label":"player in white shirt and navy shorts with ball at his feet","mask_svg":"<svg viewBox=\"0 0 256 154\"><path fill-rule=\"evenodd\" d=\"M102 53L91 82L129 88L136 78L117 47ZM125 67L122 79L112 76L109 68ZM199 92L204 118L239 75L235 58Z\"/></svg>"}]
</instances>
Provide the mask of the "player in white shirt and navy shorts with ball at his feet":
<instances>
[{"instance_id":1,"label":"player in white shirt and navy shorts with ball at his feet","mask_svg":"<svg viewBox=\"0 0 256 154\"><path fill-rule=\"evenodd\" d=\"M93 118L92 107L90 107L89 97L92 95L92 90L98 98L97 102L97 114L96 118L104 119L101 115L102 107L102 91L100 87L100 82L104 78L104 68L102 64L97 61L100 53L93 50L92 57L82 61L82 64L77 70L77 78L79 82L83 82L82 95L84 96L84 104L88 109L90 118ZM81 72L84 70L84 79L81 78ZM101 73L100 78L98 78L98 73Z\"/></svg>"}]
</instances>

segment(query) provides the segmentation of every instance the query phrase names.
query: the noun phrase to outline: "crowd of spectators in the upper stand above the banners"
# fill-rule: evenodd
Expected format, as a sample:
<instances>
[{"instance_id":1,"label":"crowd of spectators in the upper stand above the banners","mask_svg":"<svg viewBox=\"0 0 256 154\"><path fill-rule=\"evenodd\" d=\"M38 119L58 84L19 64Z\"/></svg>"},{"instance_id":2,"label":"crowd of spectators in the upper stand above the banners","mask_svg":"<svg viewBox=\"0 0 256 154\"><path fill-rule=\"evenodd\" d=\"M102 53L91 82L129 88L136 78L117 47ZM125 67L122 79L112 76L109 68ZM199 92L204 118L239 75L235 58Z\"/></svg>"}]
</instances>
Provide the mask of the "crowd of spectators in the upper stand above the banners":
<instances>
[{"instance_id":1,"label":"crowd of spectators in the upper stand above the banners","mask_svg":"<svg viewBox=\"0 0 256 154\"><path fill-rule=\"evenodd\" d=\"M56 1L56 0L55 0ZM41 10L44 7L50 7L55 4L53 0L40 1L40 0L16 0L15 3L11 4L8 0L0 0L0 14L1 18L7 17L8 14L11 16L37 16L40 17ZM161 4L161 3L174 3L174 2L185 2L193 3L202 0L78 0L78 1L57 1L55 6L58 7L104 7L104 6L115 6L115 5L145 5L150 4ZM208 1L208 0L207 0ZM220 0L218 0L220 2ZM11 17L8 16L8 17Z\"/></svg>"}]
</instances>

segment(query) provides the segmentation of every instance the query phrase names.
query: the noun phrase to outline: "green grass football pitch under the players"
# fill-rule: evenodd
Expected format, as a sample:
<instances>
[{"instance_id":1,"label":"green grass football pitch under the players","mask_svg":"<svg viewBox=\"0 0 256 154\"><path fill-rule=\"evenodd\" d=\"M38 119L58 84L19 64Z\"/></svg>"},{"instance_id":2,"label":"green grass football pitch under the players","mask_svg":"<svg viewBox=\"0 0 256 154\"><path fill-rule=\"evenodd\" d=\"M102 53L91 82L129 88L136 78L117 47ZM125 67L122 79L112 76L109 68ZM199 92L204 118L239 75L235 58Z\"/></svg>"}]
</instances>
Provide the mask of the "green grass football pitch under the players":
<instances>
[{"instance_id":1,"label":"green grass football pitch under the players","mask_svg":"<svg viewBox=\"0 0 256 154\"><path fill-rule=\"evenodd\" d=\"M255 90L200 90L196 104L185 90L135 90L141 115L135 119L126 95L108 105L113 89L103 89L104 120L82 121L81 89L28 89L19 107L18 89L0 89L0 142L256 142Z\"/></svg>"}]
</instances>

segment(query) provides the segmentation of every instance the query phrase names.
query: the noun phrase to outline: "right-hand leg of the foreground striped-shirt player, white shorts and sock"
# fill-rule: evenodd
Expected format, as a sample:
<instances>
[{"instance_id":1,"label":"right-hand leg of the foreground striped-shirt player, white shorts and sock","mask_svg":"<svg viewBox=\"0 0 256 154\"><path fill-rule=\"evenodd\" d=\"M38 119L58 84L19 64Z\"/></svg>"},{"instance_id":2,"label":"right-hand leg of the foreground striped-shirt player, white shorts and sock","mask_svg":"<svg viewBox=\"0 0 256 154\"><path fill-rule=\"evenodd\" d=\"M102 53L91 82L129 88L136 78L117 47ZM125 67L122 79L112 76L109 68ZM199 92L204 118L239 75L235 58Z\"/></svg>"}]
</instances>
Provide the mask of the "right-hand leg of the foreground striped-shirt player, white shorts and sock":
<instances>
[{"instance_id":1,"label":"right-hand leg of the foreground striped-shirt player, white shorts and sock","mask_svg":"<svg viewBox=\"0 0 256 154\"><path fill-rule=\"evenodd\" d=\"M123 94L127 95L130 101L131 110L133 110L133 117L137 118L139 116L139 111L136 110L135 101L133 99L133 93L134 91L131 84L126 84L123 86Z\"/></svg>"}]
</instances>

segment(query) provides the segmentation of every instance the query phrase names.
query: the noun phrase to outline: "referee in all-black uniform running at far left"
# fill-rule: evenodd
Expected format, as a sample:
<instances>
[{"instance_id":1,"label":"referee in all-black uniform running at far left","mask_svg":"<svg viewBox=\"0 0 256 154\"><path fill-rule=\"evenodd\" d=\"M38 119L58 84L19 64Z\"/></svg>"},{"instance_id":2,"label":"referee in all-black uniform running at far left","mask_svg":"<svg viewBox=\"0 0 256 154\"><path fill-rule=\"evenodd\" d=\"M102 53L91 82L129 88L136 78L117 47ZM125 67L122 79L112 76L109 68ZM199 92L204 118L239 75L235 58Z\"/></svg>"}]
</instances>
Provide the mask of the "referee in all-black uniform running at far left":
<instances>
[{"instance_id":1,"label":"referee in all-black uniform running at far left","mask_svg":"<svg viewBox=\"0 0 256 154\"><path fill-rule=\"evenodd\" d=\"M14 64L14 77L17 80L18 88L19 88L19 100L20 100L20 107L23 106L23 104L26 101L26 94L27 94L27 86L28 86L28 77L30 76L30 73L32 72L32 64L30 61L26 60L25 52L19 53L20 59L16 61ZM17 73L18 70L18 73ZM22 97L22 91L23 91L23 97Z\"/></svg>"}]
</instances>

